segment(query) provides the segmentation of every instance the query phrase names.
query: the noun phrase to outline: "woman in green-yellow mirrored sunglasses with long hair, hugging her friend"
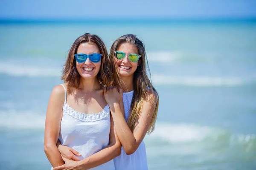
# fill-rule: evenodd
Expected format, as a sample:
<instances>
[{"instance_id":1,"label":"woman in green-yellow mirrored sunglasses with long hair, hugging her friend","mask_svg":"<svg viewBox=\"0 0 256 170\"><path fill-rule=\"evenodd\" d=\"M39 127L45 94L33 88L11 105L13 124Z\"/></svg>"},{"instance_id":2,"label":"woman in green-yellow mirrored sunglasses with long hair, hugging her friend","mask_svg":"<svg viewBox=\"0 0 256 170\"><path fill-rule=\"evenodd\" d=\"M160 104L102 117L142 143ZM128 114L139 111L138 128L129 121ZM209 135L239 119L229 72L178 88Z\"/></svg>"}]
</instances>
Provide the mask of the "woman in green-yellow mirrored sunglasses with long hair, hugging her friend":
<instances>
[{"instance_id":1,"label":"woman in green-yellow mirrored sunglasses with long hair, hugging her friend","mask_svg":"<svg viewBox=\"0 0 256 170\"><path fill-rule=\"evenodd\" d=\"M143 139L154 131L159 97L147 76L144 44L133 34L124 35L113 42L109 58L114 87L105 88L104 96L122 144L115 168L148 170ZM66 153L67 148L60 151Z\"/></svg>"}]
</instances>

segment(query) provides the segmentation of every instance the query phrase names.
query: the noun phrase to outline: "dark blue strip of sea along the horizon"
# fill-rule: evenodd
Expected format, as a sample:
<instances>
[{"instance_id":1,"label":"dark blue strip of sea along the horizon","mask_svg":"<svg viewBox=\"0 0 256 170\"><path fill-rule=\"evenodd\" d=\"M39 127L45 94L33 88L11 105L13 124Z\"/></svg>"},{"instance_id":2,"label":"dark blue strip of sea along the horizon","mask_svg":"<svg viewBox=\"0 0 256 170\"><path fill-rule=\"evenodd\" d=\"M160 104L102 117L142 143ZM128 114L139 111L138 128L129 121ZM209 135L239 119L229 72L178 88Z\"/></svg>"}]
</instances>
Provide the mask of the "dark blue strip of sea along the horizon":
<instances>
[{"instance_id":1,"label":"dark blue strip of sea along the horizon","mask_svg":"<svg viewBox=\"0 0 256 170\"><path fill-rule=\"evenodd\" d=\"M6 18L0 17L0 24L58 24L58 23L256 23L256 16L253 17L123 17L123 18Z\"/></svg>"}]
</instances>

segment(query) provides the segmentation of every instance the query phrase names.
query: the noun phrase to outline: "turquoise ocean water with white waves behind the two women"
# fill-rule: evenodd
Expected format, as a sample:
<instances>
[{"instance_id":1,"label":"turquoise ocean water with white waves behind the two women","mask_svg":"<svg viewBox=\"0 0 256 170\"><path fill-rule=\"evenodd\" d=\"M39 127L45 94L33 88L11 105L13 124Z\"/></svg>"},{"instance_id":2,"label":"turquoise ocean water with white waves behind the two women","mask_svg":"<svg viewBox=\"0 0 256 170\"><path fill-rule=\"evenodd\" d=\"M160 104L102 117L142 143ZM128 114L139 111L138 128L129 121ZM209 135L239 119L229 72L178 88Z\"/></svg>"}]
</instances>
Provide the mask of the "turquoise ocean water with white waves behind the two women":
<instances>
[{"instance_id":1,"label":"turquoise ocean water with white waves behind the two women","mask_svg":"<svg viewBox=\"0 0 256 170\"><path fill-rule=\"evenodd\" d=\"M47 170L44 121L81 34L145 43L160 95L150 170L256 169L256 21L0 22L0 170Z\"/></svg>"}]
</instances>

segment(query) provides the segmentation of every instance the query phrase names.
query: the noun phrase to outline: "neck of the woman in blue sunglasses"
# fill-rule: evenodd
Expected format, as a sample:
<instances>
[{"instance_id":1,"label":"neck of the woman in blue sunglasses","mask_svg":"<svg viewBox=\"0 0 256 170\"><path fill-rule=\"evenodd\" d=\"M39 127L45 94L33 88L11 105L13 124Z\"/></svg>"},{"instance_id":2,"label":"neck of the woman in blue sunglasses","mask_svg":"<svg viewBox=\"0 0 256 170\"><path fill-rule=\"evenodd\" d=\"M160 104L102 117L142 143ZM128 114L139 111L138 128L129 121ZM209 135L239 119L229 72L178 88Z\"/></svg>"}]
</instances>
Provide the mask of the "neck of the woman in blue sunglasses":
<instances>
[{"instance_id":1,"label":"neck of the woman in blue sunglasses","mask_svg":"<svg viewBox=\"0 0 256 170\"><path fill-rule=\"evenodd\" d=\"M96 77L94 77L93 79L80 79L79 88L81 88L83 91L95 91L98 90L99 87L100 85Z\"/></svg>"}]
</instances>

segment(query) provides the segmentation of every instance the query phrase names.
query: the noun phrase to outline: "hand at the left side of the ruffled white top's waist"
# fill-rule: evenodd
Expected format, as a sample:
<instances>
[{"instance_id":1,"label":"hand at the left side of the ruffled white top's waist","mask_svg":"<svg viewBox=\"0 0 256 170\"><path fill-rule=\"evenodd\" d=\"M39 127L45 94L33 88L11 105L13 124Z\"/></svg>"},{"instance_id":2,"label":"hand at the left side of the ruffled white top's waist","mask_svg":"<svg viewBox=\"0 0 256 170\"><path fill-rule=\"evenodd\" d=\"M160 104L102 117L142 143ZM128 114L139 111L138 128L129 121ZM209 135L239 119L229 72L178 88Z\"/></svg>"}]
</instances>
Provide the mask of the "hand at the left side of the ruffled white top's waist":
<instances>
[{"instance_id":1,"label":"hand at the left side of the ruffled white top's waist","mask_svg":"<svg viewBox=\"0 0 256 170\"><path fill-rule=\"evenodd\" d=\"M59 145L58 150L60 151L60 153L63 157L65 157L69 160L73 160L73 161L80 161L80 159L76 156L81 156L81 154L79 152L77 152L76 150L74 150L70 147L67 147L67 146L63 146L63 145Z\"/></svg>"}]
</instances>

